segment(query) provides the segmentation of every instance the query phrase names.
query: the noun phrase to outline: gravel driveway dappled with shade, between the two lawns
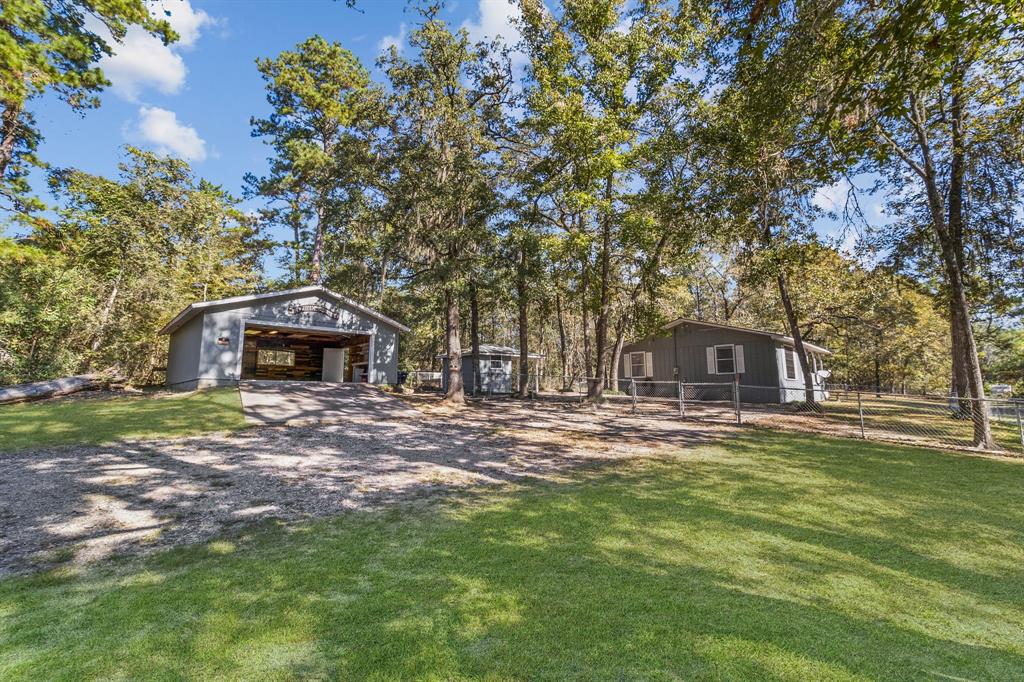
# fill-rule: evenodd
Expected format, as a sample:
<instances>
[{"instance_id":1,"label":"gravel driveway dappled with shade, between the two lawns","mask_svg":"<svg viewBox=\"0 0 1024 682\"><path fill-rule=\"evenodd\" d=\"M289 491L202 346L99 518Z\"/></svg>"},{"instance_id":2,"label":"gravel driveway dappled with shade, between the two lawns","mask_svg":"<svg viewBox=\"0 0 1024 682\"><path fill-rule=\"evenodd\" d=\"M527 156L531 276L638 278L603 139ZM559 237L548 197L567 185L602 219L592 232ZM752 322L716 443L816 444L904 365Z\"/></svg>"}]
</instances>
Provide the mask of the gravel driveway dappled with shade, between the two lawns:
<instances>
[{"instance_id":1,"label":"gravel driveway dappled with shade, between the two lawns","mask_svg":"<svg viewBox=\"0 0 1024 682\"><path fill-rule=\"evenodd\" d=\"M200 542L262 518L557 479L727 427L496 401L401 418L0 454L0 574Z\"/></svg>"}]
</instances>

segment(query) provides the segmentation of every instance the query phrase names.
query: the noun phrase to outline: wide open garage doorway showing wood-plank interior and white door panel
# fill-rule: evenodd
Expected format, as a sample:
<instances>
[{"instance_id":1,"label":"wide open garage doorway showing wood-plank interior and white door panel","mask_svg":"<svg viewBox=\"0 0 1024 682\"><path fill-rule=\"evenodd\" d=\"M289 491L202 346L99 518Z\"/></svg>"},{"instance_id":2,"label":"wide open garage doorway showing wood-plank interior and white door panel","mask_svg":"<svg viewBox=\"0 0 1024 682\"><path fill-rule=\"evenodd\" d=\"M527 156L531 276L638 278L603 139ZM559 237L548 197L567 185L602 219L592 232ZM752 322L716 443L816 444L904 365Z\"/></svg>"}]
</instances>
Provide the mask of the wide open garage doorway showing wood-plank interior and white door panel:
<instances>
[{"instance_id":1,"label":"wide open garage doorway showing wood-plank interior and white door panel","mask_svg":"<svg viewBox=\"0 0 1024 682\"><path fill-rule=\"evenodd\" d=\"M370 335L247 324L242 379L365 382Z\"/></svg>"}]
</instances>

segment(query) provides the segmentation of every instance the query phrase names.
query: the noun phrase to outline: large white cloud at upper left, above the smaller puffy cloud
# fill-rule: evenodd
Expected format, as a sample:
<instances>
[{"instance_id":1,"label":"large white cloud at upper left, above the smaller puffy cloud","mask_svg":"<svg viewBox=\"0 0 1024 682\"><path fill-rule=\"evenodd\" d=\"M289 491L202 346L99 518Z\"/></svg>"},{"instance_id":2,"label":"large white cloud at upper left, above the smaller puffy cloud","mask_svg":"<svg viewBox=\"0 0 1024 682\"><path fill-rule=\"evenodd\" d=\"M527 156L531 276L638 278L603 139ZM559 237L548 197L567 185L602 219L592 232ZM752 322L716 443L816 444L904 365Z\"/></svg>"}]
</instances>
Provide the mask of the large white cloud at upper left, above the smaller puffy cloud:
<instances>
[{"instance_id":1,"label":"large white cloud at upper left, above the smaller puffy cloud","mask_svg":"<svg viewBox=\"0 0 1024 682\"><path fill-rule=\"evenodd\" d=\"M203 28L216 23L202 9L194 9L188 0L153 4L150 12L157 18L167 19L179 34L179 40L164 45L159 38L133 26L118 43L105 28L97 26L95 19L87 19L92 24L90 30L103 36L114 50L114 54L99 60L99 68L111 80L113 90L129 101L137 100L145 88L156 88L164 94L179 92L187 74L179 50L193 47Z\"/></svg>"}]
</instances>

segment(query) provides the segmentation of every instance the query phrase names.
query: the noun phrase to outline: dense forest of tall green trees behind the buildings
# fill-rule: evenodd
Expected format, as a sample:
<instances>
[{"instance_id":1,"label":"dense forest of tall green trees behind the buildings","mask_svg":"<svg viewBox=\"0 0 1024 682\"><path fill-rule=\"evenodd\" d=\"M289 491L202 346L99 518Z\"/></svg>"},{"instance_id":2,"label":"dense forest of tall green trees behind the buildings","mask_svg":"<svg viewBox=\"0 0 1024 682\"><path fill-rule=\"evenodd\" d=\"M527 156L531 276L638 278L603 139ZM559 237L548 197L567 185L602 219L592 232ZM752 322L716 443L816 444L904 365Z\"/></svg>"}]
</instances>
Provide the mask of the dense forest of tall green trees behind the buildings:
<instances>
[{"instance_id":1,"label":"dense forest of tall green trees behind the buildings","mask_svg":"<svg viewBox=\"0 0 1024 682\"><path fill-rule=\"evenodd\" d=\"M413 328L408 370L505 343L599 394L625 342L689 316L826 346L836 383L1024 392L1018 3L519 5L510 46L411 3L378 81L317 36L260 59L246 213L130 146L117 177L47 166L28 103L99 105L90 27L176 36L141 0L5 3L0 209L25 237L0 241L0 384L159 381L157 332L189 302L322 283ZM865 173L883 223L850 188Z\"/></svg>"}]
</instances>

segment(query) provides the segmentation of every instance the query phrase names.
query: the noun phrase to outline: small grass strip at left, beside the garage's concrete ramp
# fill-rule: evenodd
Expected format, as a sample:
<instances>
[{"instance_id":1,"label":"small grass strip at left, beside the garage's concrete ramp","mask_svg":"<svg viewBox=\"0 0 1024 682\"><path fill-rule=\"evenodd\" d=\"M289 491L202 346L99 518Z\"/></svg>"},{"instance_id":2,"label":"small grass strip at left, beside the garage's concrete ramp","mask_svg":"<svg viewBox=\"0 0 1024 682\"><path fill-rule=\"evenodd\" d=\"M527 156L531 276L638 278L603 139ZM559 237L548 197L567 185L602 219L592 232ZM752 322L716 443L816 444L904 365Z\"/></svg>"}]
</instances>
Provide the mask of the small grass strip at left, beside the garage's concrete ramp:
<instances>
[{"instance_id":1,"label":"small grass strip at left, beside the garage's concrete ramp","mask_svg":"<svg viewBox=\"0 0 1024 682\"><path fill-rule=\"evenodd\" d=\"M0 452L243 427L242 403L234 388L23 402L0 406Z\"/></svg>"}]
</instances>

